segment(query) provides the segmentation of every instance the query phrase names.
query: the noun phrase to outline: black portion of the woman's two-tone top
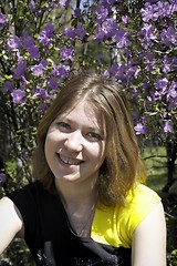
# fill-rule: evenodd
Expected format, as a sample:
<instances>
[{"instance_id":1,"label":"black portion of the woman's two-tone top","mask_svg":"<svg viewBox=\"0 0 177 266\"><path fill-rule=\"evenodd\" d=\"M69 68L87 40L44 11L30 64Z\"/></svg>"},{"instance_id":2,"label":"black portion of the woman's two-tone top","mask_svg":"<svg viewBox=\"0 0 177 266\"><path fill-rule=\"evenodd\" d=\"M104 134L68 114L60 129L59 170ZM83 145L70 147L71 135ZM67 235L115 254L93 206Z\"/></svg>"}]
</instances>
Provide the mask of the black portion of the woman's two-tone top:
<instances>
[{"instance_id":1,"label":"black portion of the woman's two-tone top","mask_svg":"<svg viewBox=\"0 0 177 266\"><path fill-rule=\"evenodd\" d=\"M60 197L45 191L40 182L12 192L8 197L22 215L24 239L37 265L131 266L131 248L77 236Z\"/></svg>"}]
</instances>

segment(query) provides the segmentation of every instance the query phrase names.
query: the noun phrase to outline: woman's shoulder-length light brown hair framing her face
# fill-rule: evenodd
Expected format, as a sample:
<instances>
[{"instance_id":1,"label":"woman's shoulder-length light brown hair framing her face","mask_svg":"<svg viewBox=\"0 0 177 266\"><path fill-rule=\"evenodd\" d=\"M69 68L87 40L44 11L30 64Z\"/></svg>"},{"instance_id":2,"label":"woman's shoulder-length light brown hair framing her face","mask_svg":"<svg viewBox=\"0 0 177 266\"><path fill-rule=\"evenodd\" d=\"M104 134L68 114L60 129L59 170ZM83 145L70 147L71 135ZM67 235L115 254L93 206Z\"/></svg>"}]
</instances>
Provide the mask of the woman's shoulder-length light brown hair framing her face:
<instances>
[{"instance_id":1,"label":"woman's shoulder-length light brown hair framing her face","mask_svg":"<svg viewBox=\"0 0 177 266\"><path fill-rule=\"evenodd\" d=\"M97 181L98 201L104 205L123 205L136 183L145 181L145 167L122 86L97 74L81 74L71 79L49 108L38 127L33 176L49 191L54 190L54 176L44 155L48 129L60 113L82 99L86 99L105 120L106 157Z\"/></svg>"}]
</instances>

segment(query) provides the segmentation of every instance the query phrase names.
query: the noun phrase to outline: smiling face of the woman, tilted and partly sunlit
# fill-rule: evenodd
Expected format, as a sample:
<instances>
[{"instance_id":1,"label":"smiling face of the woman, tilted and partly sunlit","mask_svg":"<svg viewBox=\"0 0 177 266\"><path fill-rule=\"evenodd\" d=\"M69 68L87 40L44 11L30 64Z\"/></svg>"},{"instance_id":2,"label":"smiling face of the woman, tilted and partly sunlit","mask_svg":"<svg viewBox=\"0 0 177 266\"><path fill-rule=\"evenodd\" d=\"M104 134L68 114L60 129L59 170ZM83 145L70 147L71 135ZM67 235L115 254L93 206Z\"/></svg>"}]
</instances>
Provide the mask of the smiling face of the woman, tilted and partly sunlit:
<instances>
[{"instance_id":1,"label":"smiling face of the woman, tilted and partly sunlit","mask_svg":"<svg viewBox=\"0 0 177 266\"><path fill-rule=\"evenodd\" d=\"M105 158L104 119L83 100L61 113L45 140L46 162L55 181L93 181Z\"/></svg>"}]
</instances>

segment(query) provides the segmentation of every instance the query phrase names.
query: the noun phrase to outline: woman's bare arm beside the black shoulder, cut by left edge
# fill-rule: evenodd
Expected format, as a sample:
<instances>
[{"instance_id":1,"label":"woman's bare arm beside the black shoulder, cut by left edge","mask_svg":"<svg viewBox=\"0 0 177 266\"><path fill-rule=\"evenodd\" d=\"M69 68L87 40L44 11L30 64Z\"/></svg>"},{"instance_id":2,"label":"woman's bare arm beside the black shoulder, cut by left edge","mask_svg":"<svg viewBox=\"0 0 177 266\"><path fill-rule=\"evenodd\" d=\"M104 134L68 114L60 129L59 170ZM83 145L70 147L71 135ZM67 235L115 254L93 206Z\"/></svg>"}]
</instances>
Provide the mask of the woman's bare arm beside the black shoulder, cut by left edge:
<instances>
[{"instance_id":1,"label":"woman's bare arm beside the black shoulder, cut by left edge","mask_svg":"<svg viewBox=\"0 0 177 266\"><path fill-rule=\"evenodd\" d=\"M3 197L0 200L0 254L8 247L13 237L22 236L23 222L13 202Z\"/></svg>"}]
</instances>

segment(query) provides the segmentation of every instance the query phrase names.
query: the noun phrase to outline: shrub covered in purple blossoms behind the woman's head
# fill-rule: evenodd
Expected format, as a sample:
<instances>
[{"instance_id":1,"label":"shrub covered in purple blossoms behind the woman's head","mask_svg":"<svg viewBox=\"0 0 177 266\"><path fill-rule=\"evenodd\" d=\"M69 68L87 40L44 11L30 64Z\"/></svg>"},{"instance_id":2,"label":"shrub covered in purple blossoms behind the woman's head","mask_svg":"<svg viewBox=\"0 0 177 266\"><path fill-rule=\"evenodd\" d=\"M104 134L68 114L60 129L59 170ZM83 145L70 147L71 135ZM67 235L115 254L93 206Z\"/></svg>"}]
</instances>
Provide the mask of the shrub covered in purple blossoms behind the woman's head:
<instances>
[{"instance_id":1,"label":"shrub covered in purple blossoms behind the woman's head","mask_svg":"<svg viewBox=\"0 0 177 266\"><path fill-rule=\"evenodd\" d=\"M12 155L25 167L48 103L73 71L85 68L124 85L137 135L177 143L176 0L14 6L6 2L0 13L0 95Z\"/></svg>"}]
</instances>

